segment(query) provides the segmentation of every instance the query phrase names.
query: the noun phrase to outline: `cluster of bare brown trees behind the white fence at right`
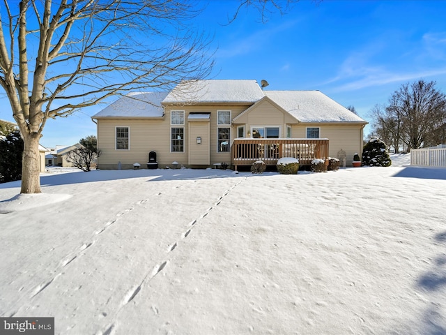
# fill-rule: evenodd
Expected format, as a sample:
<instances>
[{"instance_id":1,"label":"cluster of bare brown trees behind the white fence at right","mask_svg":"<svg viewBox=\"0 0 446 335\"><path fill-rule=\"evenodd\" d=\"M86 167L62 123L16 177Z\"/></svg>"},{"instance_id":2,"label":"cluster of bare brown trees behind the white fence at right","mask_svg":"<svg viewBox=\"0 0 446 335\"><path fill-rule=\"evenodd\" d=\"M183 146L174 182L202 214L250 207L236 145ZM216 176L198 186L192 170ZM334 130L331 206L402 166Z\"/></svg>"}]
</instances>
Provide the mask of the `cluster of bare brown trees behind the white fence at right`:
<instances>
[{"instance_id":1,"label":"cluster of bare brown trees behind the white fence at right","mask_svg":"<svg viewBox=\"0 0 446 335\"><path fill-rule=\"evenodd\" d=\"M445 143L446 96L436 82L402 84L385 105L375 105L372 135L396 153Z\"/></svg>"}]
</instances>

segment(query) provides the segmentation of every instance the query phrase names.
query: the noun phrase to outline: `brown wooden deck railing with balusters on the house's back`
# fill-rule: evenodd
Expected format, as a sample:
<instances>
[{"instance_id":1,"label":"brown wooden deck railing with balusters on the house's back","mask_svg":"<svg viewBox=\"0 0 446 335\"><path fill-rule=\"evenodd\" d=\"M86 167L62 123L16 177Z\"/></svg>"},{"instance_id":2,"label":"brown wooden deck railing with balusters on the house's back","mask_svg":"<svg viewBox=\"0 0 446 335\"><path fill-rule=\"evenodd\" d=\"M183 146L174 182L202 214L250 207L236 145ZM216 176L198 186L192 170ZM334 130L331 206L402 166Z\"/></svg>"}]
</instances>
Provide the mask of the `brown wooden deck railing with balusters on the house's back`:
<instances>
[{"instance_id":1,"label":"brown wooden deck railing with balusters on the house's back","mask_svg":"<svg viewBox=\"0 0 446 335\"><path fill-rule=\"evenodd\" d=\"M298 158L300 165L310 165L314 158L328 158L327 138L236 138L231 147L232 165L252 165L263 161L276 165L282 157Z\"/></svg>"}]
</instances>

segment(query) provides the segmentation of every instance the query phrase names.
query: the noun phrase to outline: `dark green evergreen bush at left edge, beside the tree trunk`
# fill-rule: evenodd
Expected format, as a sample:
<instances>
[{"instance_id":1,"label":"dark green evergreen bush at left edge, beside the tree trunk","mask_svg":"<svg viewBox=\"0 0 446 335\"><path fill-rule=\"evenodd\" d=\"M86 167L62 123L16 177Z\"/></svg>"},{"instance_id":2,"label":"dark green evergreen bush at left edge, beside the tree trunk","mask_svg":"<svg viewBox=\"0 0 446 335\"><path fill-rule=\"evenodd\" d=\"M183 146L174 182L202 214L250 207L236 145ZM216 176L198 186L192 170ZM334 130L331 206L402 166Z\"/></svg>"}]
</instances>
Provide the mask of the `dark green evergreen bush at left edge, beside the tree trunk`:
<instances>
[{"instance_id":1,"label":"dark green evergreen bush at left edge, beside the tree trunk","mask_svg":"<svg viewBox=\"0 0 446 335\"><path fill-rule=\"evenodd\" d=\"M22 154L19 131L0 137L0 183L22 179Z\"/></svg>"}]
</instances>

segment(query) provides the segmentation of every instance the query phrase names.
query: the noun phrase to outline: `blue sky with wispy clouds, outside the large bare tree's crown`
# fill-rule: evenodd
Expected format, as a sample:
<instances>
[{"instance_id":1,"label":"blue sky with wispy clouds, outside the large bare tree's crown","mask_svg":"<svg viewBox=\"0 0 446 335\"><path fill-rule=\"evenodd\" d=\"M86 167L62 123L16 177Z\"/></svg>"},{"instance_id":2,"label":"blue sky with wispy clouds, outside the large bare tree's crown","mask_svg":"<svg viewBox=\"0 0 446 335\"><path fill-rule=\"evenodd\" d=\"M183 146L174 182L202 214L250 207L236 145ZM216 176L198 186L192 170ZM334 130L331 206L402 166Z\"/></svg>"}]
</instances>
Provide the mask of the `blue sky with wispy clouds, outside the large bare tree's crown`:
<instances>
[{"instance_id":1,"label":"blue sky with wispy clouds, outside the large bare tree's crown","mask_svg":"<svg viewBox=\"0 0 446 335\"><path fill-rule=\"evenodd\" d=\"M202 3L205 3L203 1ZM267 80L271 90L322 91L341 105L370 110L401 84L435 80L446 93L446 1L300 1L259 22L236 0L208 1L195 23L214 37L213 79ZM1 105L7 105L3 94ZM105 105L47 121L41 144L70 145L95 134L91 115ZM3 108L0 119L13 120ZM365 134L369 133L367 126Z\"/></svg>"}]
</instances>

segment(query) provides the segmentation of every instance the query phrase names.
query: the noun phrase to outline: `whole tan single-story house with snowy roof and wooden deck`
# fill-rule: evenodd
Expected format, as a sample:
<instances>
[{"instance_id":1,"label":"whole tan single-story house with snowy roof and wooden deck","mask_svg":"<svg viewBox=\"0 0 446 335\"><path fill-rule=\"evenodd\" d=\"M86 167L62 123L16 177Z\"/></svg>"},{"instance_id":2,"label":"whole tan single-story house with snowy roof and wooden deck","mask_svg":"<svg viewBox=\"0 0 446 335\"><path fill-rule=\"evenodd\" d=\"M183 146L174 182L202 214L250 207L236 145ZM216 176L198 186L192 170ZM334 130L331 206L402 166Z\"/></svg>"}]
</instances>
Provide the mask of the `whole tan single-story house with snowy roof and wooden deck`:
<instances>
[{"instance_id":1,"label":"whole tan single-story house with snowy roof and wooden deck","mask_svg":"<svg viewBox=\"0 0 446 335\"><path fill-rule=\"evenodd\" d=\"M309 164L341 150L351 165L367 124L320 91L263 91L255 80L199 80L170 92L128 94L92 119L101 169L144 166L150 151L160 168L237 168L258 159L275 165L282 156Z\"/></svg>"}]
</instances>

